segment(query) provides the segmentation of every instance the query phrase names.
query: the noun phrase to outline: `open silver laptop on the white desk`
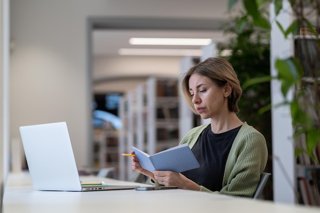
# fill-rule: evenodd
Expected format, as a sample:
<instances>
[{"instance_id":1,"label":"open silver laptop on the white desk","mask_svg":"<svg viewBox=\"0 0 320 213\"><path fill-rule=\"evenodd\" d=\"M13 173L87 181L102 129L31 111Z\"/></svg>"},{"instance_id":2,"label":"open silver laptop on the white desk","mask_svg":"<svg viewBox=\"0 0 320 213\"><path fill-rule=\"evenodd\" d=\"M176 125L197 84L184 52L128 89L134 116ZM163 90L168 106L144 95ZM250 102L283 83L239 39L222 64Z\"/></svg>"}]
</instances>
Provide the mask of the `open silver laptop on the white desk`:
<instances>
[{"instance_id":1,"label":"open silver laptop on the white desk","mask_svg":"<svg viewBox=\"0 0 320 213\"><path fill-rule=\"evenodd\" d=\"M35 190L100 191L134 189L139 185L82 185L65 122L20 127Z\"/></svg>"}]
</instances>

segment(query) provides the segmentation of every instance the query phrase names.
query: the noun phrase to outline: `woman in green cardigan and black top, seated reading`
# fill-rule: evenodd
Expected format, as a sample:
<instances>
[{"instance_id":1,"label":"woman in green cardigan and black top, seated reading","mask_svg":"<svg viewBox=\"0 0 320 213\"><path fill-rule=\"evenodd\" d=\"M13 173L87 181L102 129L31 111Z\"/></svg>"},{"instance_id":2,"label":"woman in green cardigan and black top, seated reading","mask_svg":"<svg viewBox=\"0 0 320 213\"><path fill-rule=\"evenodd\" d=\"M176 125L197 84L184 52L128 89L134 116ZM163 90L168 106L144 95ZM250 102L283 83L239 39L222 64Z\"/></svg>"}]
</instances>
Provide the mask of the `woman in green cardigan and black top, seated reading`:
<instances>
[{"instance_id":1,"label":"woman in green cardigan and black top, seated reading","mask_svg":"<svg viewBox=\"0 0 320 213\"><path fill-rule=\"evenodd\" d=\"M236 115L242 89L232 65L223 58L208 58L186 73L181 88L189 107L210 119L180 141L189 145L200 168L151 173L132 157L132 169L155 185L253 197L268 153L264 136Z\"/></svg>"}]
</instances>

